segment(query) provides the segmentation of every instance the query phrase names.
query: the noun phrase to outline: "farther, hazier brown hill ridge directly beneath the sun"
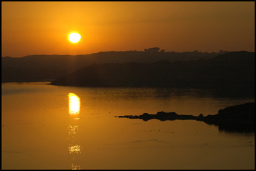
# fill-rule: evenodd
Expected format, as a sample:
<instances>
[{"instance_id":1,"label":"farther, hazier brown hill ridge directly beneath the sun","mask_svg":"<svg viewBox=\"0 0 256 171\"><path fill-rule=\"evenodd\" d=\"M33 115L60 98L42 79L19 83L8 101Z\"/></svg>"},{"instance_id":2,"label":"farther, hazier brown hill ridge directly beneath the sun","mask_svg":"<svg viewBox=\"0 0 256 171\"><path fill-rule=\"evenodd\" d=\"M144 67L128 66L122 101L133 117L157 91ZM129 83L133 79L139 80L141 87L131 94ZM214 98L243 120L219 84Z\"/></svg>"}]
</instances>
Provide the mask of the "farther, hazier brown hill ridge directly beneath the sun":
<instances>
[{"instance_id":1,"label":"farther, hazier brown hill ridge directly beneath the sun","mask_svg":"<svg viewBox=\"0 0 256 171\"><path fill-rule=\"evenodd\" d=\"M22 58L2 58L2 82L38 81L56 79L90 64L138 62L150 63L160 60L188 61L209 59L224 52L99 52L90 55L30 55Z\"/></svg>"}]
</instances>

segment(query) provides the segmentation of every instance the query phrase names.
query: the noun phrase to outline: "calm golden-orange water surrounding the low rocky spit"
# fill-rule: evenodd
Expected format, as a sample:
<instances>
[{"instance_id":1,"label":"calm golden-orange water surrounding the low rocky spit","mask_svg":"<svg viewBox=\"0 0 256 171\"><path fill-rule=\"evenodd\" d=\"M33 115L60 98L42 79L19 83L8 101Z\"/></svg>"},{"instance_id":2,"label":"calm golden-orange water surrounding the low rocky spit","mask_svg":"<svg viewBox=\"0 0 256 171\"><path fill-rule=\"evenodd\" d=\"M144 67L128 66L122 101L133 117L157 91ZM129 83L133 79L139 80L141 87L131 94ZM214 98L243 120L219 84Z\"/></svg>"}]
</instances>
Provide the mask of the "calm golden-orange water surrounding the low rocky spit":
<instances>
[{"instance_id":1,"label":"calm golden-orange water surrounding the low rocky spit","mask_svg":"<svg viewBox=\"0 0 256 171\"><path fill-rule=\"evenodd\" d=\"M214 115L254 98L209 90L2 84L2 169L255 169L255 134L200 121L120 115Z\"/></svg>"}]
</instances>

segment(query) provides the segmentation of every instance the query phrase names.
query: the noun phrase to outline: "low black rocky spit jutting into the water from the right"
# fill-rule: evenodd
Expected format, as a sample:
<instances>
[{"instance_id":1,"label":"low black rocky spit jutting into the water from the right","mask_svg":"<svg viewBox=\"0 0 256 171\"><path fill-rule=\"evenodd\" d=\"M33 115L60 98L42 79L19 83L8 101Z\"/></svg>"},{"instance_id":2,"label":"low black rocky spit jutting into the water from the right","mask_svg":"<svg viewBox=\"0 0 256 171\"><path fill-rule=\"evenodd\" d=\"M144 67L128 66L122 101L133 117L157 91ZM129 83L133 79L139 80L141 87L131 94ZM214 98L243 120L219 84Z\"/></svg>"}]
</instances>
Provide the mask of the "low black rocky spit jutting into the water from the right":
<instances>
[{"instance_id":1,"label":"low black rocky spit jutting into the water from the right","mask_svg":"<svg viewBox=\"0 0 256 171\"><path fill-rule=\"evenodd\" d=\"M237 106L220 109L216 115L199 116L178 115L175 112L158 112L157 114L143 113L143 115L124 115L118 118L159 119L160 121L173 120L196 120L218 126L219 130L227 132L255 132L255 103L245 103Z\"/></svg>"}]
</instances>

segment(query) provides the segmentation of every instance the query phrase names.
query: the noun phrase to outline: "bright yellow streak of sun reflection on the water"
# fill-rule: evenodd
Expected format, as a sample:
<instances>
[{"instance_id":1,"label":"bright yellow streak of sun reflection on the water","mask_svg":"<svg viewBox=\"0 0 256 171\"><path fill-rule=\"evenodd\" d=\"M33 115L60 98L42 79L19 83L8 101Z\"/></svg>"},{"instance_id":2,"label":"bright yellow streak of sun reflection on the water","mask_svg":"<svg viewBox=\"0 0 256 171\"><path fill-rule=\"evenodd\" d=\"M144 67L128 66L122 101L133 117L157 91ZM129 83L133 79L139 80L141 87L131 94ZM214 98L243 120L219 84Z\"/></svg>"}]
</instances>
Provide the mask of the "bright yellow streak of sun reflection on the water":
<instances>
[{"instance_id":1,"label":"bright yellow streak of sun reflection on the water","mask_svg":"<svg viewBox=\"0 0 256 171\"><path fill-rule=\"evenodd\" d=\"M70 122L69 126L67 127L69 130L69 135L71 136L70 144L69 144L69 153L72 155L72 170L80 170L81 166L76 161L76 158L81 153L82 147L77 143L78 141L78 123L79 123L79 113L80 113L80 98L75 95L74 93L69 93L69 115L72 117L72 121ZM73 145L76 144L76 145Z\"/></svg>"}]
</instances>

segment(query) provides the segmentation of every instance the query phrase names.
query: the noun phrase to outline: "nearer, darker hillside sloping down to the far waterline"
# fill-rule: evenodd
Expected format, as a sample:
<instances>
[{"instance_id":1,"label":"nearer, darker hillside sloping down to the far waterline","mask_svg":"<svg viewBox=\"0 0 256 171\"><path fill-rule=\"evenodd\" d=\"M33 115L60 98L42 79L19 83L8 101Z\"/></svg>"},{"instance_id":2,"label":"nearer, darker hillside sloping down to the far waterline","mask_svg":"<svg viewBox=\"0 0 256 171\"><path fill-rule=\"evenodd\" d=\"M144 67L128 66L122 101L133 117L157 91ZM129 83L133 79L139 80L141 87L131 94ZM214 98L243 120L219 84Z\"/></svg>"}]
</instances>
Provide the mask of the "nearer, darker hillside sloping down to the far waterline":
<instances>
[{"instance_id":1,"label":"nearer, darker hillside sloping down to the far waterline","mask_svg":"<svg viewBox=\"0 0 256 171\"><path fill-rule=\"evenodd\" d=\"M51 84L96 87L192 87L252 90L255 53L231 52L211 59L150 64L92 64Z\"/></svg>"}]
</instances>

